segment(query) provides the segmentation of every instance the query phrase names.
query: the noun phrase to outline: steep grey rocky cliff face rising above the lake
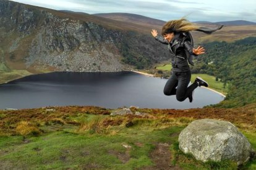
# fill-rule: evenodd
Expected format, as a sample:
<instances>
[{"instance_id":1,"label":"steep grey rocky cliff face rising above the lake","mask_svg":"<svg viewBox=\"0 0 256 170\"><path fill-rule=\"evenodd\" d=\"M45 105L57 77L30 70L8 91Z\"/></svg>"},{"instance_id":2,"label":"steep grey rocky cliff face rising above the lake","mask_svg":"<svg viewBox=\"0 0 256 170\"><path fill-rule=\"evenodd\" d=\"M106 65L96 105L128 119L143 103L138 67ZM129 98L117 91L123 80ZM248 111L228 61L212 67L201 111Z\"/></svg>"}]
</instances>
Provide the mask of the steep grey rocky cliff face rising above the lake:
<instances>
[{"instance_id":1,"label":"steep grey rocky cliff face rising above the lake","mask_svg":"<svg viewBox=\"0 0 256 170\"><path fill-rule=\"evenodd\" d=\"M93 17L1 0L1 62L12 69L121 71L168 59L150 34L111 29Z\"/></svg>"}]
</instances>

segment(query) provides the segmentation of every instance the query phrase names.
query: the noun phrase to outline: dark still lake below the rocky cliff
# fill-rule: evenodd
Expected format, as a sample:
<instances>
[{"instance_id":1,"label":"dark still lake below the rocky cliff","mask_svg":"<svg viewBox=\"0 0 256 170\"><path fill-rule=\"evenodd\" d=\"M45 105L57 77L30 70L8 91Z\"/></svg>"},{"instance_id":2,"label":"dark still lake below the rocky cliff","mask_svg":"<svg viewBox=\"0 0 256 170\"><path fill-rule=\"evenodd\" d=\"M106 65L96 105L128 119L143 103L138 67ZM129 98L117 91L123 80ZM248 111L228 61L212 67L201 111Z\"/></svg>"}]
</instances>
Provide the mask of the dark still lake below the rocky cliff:
<instances>
[{"instance_id":1,"label":"dark still lake below the rocky cliff","mask_svg":"<svg viewBox=\"0 0 256 170\"><path fill-rule=\"evenodd\" d=\"M220 94L198 87L192 103L189 103L189 99L178 102L175 95L163 94L166 81L130 71L32 75L0 85L0 109L64 105L202 108L224 99Z\"/></svg>"}]
</instances>

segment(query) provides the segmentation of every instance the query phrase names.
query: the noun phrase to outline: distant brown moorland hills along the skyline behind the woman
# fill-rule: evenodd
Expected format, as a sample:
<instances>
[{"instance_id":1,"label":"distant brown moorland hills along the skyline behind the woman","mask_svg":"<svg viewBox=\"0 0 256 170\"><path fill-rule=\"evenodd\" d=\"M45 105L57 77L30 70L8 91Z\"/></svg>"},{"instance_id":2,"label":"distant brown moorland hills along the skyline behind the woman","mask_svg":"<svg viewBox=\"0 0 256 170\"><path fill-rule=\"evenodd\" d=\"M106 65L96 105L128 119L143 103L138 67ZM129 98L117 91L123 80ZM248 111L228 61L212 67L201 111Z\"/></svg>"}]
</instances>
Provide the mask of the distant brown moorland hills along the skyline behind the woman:
<instances>
[{"instance_id":1,"label":"distant brown moorland hills along the skyline behind the woman","mask_svg":"<svg viewBox=\"0 0 256 170\"><path fill-rule=\"evenodd\" d=\"M156 29L158 33L161 32L161 27L164 25L165 21L156 20L154 18L144 17L142 15L127 14L127 13L108 13L108 14L93 14L98 17L103 17L106 19L116 20L118 22L126 23L128 26L126 29L134 28L137 25L136 29L141 33L150 34L151 29ZM256 26L252 25L253 22L207 22L207 21L198 21L194 22L201 26L214 27L216 25L223 24L224 27L221 30L216 31L213 34L204 34L198 31L192 31L192 34L195 39L195 43L202 42L211 42L211 41L226 41L234 42L239 39L244 39L249 36L256 36ZM241 25L235 25L240 23ZM250 23L250 24L249 24ZM247 24L247 25L246 25ZM146 31L148 30L148 31Z\"/></svg>"}]
</instances>

